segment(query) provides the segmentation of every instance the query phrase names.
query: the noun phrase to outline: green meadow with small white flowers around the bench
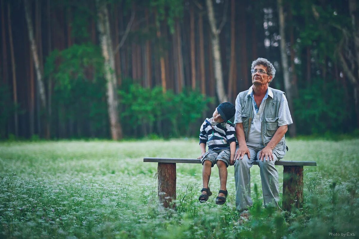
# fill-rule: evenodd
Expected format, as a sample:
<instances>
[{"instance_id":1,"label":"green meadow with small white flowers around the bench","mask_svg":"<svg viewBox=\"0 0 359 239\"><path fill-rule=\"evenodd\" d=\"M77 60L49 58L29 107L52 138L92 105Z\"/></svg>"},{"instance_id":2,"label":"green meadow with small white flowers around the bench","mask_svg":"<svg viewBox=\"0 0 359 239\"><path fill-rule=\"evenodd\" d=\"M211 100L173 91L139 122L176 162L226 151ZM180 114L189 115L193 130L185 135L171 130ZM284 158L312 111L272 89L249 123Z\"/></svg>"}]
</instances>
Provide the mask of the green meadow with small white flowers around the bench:
<instances>
[{"instance_id":1,"label":"green meadow with small white flowers around the bench","mask_svg":"<svg viewBox=\"0 0 359 239\"><path fill-rule=\"evenodd\" d=\"M318 165L304 167L303 209L264 209L259 168L253 166L252 220L236 226L234 167L228 168L227 203L219 206L215 195L204 204L197 200L202 166L177 164L177 212L158 210L157 164L143 158L197 158L195 139L2 142L0 238L358 237L359 139L287 144L284 160ZM276 167L281 192L283 167ZM219 190L216 167L210 187Z\"/></svg>"}]
</instances>

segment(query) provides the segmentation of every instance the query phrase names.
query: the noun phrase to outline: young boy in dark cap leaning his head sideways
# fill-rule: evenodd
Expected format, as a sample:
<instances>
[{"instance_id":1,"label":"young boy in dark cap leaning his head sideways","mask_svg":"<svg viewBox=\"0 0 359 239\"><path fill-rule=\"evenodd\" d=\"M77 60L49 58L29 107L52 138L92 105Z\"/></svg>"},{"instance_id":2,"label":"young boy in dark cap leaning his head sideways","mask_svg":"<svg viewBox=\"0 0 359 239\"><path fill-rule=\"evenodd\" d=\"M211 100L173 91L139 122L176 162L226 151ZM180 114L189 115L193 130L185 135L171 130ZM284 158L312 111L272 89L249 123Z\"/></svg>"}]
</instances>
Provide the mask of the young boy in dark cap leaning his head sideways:
<instances>
[{"instance_id":1,"label":"young boy in dark cap leaning his head sideways","mask_svg":"<svg viewBox=\"0 0 359 239\"><path fill-rule=\"evenodd\" d=\"M234 125L229 121L236 113L236 108L230 102L220 104L213 113L213 117L206 119L201 126L200 148L203 169L203 188L200 202L205 202L212 192L208 188L211 168L217 164L219 171L220 190L216 204L224 204L227 198L227 167L234 164L236 153L236 133ZM206 144L208 152L206 153Z\"/></svg>"}]
</instances>

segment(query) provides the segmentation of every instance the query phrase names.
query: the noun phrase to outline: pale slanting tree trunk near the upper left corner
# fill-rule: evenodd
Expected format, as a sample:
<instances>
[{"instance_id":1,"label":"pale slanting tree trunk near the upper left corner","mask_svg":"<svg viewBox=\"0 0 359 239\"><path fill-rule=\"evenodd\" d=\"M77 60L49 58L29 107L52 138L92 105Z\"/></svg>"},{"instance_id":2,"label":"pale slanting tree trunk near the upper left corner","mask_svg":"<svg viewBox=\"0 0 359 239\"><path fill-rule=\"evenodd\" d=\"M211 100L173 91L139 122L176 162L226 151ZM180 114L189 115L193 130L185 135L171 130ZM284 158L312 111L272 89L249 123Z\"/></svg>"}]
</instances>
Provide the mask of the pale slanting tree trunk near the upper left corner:
<instances>
[{"instance_id":1,"label":"pale slanting tree trunk near the upper left corner","mask_svg":"<svg viewBox=\"0 0 359 239\"><path fill-rule=\"evenodd\" d=\"M34 30L32 27L33 25L32 25L32 20L31 20L31 15L30 15L31 9L29 6L29 0L24 0L24 3L25 3L25 16L26 16L27 28L28 28L29 39L30 39L30 43L31 43L31 52L32 52L32 57L34 59L34 63L35 63L35 70L36 70L36 76L37 76L38 89L39 89L40 98L41 98L41 104L42 104L42 108L46 109L45 86L44 86L43 79L42 79L42 71L41 71L42 67L40 65L36 42L34 39Z\"/></svg>"}]
</instances>

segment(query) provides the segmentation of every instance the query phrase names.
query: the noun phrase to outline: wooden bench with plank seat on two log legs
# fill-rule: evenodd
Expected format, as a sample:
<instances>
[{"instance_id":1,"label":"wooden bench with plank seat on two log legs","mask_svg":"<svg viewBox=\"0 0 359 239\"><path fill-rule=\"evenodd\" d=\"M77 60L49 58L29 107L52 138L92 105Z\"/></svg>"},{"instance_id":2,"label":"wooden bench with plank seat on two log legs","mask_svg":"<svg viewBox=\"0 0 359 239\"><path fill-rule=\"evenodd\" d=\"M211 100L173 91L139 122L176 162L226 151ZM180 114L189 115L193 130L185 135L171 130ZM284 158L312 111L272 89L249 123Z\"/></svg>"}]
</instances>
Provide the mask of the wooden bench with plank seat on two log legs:
<instances>
[{"instance_id":1,"label":"wooden bench with plank seat on two log legs","mask_svg":"<svg viewBox=\"0 0 359 239\"><path fill-rule=\"evenodd\" d=\"M158 163L158 197L165 208L175 209L176 205L176 163L201 163L200 159L190 158L144 158L143 162ZM258 165L255 161L254 164ZM277 161L283 166L283 209L290 211L292 206L302 207L303 203L303 166L317 166L314 161Z\"/></svg>"}]
</instances>

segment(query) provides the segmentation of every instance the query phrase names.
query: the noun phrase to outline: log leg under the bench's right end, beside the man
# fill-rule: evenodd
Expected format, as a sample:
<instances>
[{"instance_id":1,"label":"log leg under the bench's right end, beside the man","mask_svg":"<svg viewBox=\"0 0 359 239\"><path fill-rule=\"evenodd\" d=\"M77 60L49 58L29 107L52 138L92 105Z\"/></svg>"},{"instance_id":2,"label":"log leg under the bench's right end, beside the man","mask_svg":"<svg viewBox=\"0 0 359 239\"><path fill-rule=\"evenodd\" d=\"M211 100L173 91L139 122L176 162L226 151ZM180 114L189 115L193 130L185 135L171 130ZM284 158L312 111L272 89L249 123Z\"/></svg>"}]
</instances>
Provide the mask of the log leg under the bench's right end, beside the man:
<instances>
[{"instance_id":1,"label":"log leg under the bench's right end, beside the man","mask_svg":"<svg viewBox=\"0 0 359 239\"><path fill-rule=\"evenodd\" d=\"M303 166L283 166L283 209L292 210L302 207L303 203Z\"/></svg>"}]
</instances>

